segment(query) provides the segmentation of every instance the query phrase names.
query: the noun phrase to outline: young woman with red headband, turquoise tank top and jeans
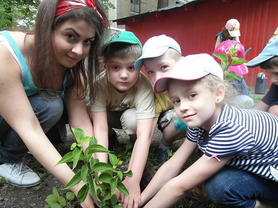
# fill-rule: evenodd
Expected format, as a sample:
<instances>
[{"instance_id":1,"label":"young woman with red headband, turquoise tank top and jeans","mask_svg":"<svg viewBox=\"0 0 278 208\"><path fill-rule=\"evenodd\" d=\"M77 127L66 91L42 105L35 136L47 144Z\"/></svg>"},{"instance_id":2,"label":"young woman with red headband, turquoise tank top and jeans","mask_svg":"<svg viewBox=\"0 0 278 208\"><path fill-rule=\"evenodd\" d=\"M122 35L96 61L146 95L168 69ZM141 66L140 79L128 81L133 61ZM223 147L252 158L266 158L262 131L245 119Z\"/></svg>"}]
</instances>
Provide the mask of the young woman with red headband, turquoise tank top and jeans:
<instances>
[{"instance_id":1,"label":"young woman with red headband, turquoise tank top and jeans","mask_svg":"<svg viewBox=\"0 0 278 208\"><path fill-rule=\"evenodd\" d=\"M61 117L64 93L69 125L92 136L86 87L93 97L107 24L98 1L43 0L33 31L0 32L0 176L9 183L39 183L37 174L21 162L28 149L62 183L73 177L66 164L55 167L61 156L45 133ZM77 194L81 187L71 190ZM94 207L92 198L82 206Z\"/></svg>"}]
</instances>

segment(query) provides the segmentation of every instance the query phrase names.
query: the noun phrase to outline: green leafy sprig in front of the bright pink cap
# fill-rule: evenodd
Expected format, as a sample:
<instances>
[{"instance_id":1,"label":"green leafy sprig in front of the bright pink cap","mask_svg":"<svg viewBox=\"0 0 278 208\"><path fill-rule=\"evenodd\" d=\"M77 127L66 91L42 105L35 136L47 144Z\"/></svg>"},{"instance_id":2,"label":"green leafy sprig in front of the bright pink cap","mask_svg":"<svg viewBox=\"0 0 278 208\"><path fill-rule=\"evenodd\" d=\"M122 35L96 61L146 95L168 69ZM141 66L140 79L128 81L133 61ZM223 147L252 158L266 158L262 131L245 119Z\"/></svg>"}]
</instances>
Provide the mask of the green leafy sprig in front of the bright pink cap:
<instances>
[{"instance_id":1,"label":"green leafy sprig in front of the bright pink cap","mask_svg":"<svg viewBox=\"0 0 278 208\"><path fill-rule=\"evenodd\" d=\"M243 64L248 62L242 58L237 57L238 55L236 54L236 52L238 51L238 49L236 48L236 46L237 43L234 46L231 46L229 48L229 52L227 54L230 55L231 57L230 60L228 60L228 56L225 54L213 54L213 56L221 60L221 67L223 70L225 80L234 80L234 79L240 80L236 72L234 71L227 72L227 69L231 66L234 66L235 64Z\"/></svg>"}]
</instances>

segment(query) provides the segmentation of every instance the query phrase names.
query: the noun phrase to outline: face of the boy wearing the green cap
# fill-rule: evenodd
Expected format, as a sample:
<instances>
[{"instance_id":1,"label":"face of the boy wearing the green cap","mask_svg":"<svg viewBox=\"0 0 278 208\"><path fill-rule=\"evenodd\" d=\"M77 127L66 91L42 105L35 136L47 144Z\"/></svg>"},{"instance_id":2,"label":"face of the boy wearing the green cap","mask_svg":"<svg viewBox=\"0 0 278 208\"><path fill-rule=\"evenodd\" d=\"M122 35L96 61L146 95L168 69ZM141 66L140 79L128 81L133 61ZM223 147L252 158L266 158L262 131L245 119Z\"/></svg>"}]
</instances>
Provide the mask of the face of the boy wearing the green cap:
<instances>
[{"instance_id":1,"label":"face of the boy wearing the green cap","mask_svg":"<svg viewBox=\"0 0 278 208\"><path fill-rule=\"evenodd\" d=\"M133 56L110 56L104 64L109 82L119 93L124 93L136 83L140 70L135 70L135 61Z\"/></svg>"}]
</instances>

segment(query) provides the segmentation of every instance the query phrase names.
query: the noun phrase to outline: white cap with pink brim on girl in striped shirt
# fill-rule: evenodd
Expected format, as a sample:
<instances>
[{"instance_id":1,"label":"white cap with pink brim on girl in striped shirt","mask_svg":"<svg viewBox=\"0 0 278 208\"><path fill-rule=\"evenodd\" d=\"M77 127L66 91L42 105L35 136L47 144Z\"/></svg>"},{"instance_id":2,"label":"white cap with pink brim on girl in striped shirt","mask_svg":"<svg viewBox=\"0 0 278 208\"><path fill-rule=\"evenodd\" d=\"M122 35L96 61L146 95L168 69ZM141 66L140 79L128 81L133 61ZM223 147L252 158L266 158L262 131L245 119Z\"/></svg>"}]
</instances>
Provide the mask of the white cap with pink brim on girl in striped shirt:
<instances>
[{"instance_id":1,"label":"white cap with pink brim on girl in striped shirt","mask_svg":"<svg viewBox=\"0 0 278 208\"><path fill-rule=\"evenodd\" d=\"M171 73L158 78L154 83L155 93L168 90L170 79L197 80L212 74L223 80L223 71L219 64L208 54L189 55L179 60Z\"/></svg>"}]
</instances>

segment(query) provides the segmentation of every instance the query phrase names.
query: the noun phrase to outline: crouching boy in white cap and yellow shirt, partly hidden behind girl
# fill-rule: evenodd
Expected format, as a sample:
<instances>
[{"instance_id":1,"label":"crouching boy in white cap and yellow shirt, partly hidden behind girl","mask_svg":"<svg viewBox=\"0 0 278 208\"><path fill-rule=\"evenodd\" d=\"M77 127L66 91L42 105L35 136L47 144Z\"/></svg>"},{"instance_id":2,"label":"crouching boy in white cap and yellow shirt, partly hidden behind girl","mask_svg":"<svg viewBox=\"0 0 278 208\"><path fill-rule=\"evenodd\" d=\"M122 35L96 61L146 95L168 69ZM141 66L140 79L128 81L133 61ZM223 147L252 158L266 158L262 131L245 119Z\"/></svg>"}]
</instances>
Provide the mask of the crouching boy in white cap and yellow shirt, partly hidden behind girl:
<instances>
[{"instance_id":1,"label":"crouching boy in white cap and yellow shirt, partly hidden behind girl","mask_svg":"<svg viewBox=\"0 0 278 208\"><path fill-rule=\"evenodd\" d=\"M135 62L135 69L140 70L145 65L149 79L154 84L159 77L171 73L179 59L181 59L180 47L173 38L166 35L154 36L144 44L142 56ZM167 161L167 149L171 148L174 141L183 138L187 130L187 126L177 118L167 93L155 93L152 136L156 124L163 134L154 158L158 165L162 165Z\"/></svg>"}]
</instances>

